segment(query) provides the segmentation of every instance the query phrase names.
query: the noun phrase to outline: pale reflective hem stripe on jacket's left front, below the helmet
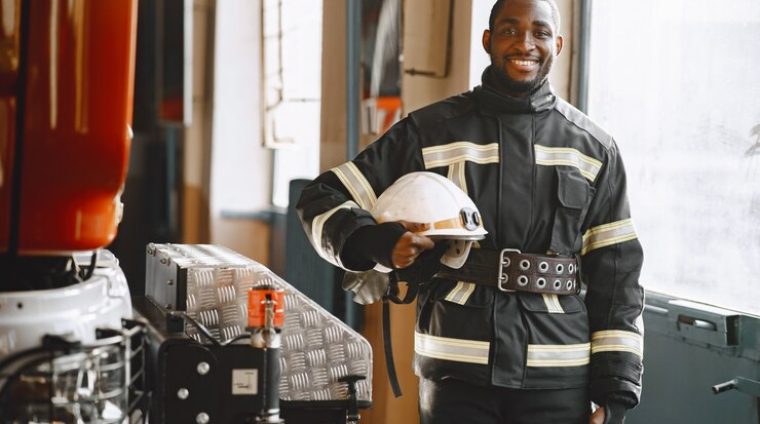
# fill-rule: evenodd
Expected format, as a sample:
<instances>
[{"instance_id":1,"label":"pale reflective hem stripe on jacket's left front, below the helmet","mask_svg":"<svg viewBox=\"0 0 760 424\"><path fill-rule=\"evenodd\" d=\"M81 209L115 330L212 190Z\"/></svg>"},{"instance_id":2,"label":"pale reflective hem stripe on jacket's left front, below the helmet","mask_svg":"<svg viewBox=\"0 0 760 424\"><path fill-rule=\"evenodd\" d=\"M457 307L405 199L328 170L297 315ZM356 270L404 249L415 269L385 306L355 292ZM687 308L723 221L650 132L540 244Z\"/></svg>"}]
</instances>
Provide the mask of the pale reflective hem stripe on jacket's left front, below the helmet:
<instances>
[{"instance_id":1,"label":"pale reflective hem stripe on jacket's left front, below the helmet","mask_svg":"<svg viewBox=\"0 0 760 424\"><path fill-rule=\"evenodd\" d=\"M486 365L490 349L490 342L414 333L414 351L428 358Z\"/></svg>"}]
</instances>

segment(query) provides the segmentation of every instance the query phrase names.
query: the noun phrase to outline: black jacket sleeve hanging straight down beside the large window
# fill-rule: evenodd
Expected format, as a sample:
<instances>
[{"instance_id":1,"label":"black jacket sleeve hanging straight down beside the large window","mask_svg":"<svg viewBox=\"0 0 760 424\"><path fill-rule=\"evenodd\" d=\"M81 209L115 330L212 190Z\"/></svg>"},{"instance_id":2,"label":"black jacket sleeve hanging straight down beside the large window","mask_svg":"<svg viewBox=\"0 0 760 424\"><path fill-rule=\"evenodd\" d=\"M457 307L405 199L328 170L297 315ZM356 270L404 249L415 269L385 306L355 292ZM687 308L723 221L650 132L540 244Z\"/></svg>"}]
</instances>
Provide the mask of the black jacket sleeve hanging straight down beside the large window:
<instances>
[{"instance_id":1,"label":"black jacket sleeve hanging straight down beside the large window","mask_svg":"<svg viewBox=\"0 0 760 424\"><path fill-rule=\"evenodd\" d=\"M581 251L591 330L591 399L632 408L639 402L643 370L643 252L614 141L607 159L584 224Z\"/></svg>"}]
</instances>

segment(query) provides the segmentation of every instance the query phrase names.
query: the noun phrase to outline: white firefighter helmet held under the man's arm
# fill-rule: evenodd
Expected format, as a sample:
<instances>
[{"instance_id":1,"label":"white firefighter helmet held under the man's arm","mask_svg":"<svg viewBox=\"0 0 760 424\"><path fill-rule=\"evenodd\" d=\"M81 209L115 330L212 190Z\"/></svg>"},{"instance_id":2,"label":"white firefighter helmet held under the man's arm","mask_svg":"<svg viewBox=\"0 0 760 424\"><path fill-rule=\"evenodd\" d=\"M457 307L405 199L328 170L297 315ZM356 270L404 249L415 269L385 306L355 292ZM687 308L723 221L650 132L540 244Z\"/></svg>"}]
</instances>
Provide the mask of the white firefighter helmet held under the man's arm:
<instances>
[{"instance_id":1,"label":"white firefighter helmet held under the man's arm","mask_svg":"<svg viewBox=\"0 0 760 424\"><path fill-rule=\"evenodd\" d=\"M417 234L452 240L441 262L461 268L472 242L488 233L477 206L459 187L433 172L412 172L396 180L372 209L378 223L409 221L422 224Z\"/></svg>"}]
</instances>

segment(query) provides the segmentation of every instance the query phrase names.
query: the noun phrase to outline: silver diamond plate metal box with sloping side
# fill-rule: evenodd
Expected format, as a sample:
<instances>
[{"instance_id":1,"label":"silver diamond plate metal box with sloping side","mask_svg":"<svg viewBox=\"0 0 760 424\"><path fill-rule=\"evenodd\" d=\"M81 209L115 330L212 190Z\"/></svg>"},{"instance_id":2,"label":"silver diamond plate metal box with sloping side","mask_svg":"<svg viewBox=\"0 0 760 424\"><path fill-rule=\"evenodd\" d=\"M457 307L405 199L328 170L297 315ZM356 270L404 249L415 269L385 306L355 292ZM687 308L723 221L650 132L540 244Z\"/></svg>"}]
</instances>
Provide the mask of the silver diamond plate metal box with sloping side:
<instances>
[{"instance_id":1,"label":"silver diamond plate metal box with sloping side","mask_svg":"<svg viewBox=\"0 0 760 424\"><path fill-rule=\"evenodd\" d=\"M372 400L372 348L351 327L265 266L226 247L151 243L146 251L146 295L185 311L220 342L247 325L247 292L258 285L285 290L282 400L338 400L348 395L341 377L362 375L357 397ZM193 326L186 333L202 341Z\"/></svg>"}]
</instances>

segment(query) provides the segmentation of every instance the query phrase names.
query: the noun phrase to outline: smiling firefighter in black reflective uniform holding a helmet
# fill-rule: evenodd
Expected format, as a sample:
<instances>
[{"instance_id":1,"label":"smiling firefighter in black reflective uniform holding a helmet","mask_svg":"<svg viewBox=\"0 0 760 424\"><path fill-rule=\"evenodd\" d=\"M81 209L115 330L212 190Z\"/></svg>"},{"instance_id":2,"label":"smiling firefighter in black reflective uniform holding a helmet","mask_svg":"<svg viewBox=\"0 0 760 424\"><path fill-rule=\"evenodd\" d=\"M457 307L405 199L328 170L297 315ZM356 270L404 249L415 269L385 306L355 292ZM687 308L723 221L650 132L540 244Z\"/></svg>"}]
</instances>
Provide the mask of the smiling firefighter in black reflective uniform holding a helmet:
<instances>
[{"instance_id":1,"label":"smiling firefighter in black reflective uniform holding a helmet","mask_svg":"<svg viewBox=\"0 0 760 424\"><path fill-rule=\"evenodd\" d=\"M615 141L547 81L559 28L553 0L497 1L482 85L410 113L297 205L317 252L357 273L441 243L370 213L402 176L437 173L476 205L485 238L419 287L423 423L622 423L639 402L643 253Z\"/></svg>"}]
</instances>

